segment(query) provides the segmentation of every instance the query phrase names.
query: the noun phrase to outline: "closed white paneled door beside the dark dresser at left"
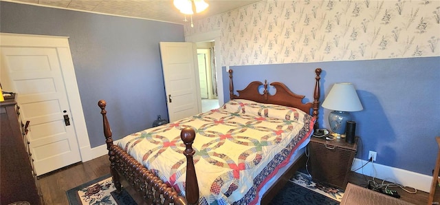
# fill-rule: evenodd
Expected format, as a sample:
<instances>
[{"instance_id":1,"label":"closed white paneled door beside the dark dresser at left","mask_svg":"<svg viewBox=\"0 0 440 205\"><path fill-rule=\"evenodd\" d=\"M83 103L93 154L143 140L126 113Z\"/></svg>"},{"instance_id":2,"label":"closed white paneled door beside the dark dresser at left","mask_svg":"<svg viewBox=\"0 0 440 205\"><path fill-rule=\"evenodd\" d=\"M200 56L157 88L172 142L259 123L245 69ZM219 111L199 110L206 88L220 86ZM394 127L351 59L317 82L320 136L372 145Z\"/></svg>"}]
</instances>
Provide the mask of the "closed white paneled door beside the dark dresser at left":
<instances>
[{"instance_id":1,"label":"closed white paneled door beside the dark dresser at left","mask_svg":"<svg viewBox=\"0 0 440 205\"><path fill-rule=\"evenodd\" d=\"M11 46L14 43L4 42L8 41L4 36L1 40L1 85L3 91L17 93L21 120L30 121L28 140L36 174L79 162L62 73L63 61L70 58L60 55L63 48Z\"/></svg>"}]
</instances>

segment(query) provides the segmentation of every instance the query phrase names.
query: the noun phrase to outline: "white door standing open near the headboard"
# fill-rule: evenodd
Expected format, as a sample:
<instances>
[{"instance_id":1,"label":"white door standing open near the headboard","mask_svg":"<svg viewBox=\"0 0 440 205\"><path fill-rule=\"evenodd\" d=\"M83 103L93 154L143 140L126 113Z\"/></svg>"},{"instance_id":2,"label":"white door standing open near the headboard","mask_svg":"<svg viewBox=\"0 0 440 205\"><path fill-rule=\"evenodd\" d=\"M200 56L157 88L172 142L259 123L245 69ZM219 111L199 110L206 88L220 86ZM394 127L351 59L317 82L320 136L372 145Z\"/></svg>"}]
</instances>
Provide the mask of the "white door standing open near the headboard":
<instances>
[{"instance_id":1,"label":"white door standing open near the headboard","mask_svg":"<svg viewBox=\"0 0 440 205\"><path fill-rule=\"evenodd\" d=\"M166 105L170 122L201 112L195 43L160 42Z\"/></svg>"}]
</instances>

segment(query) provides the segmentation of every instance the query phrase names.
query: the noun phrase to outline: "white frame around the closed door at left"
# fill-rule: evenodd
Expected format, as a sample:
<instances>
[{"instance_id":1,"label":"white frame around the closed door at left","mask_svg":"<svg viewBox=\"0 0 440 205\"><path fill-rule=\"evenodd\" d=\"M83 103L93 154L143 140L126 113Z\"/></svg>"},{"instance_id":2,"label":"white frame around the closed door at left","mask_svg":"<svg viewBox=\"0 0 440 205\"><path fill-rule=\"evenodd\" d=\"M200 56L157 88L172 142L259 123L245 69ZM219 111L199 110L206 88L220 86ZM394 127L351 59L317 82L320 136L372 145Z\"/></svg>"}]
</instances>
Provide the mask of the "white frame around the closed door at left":
<instances>
[{"instance_id":1,"label":"white frame around the closed door at left","mask_svg":"<svg viewBox=\"0 0 440 205\"><path fill-rule=\"evenodd\" d=\"M22 38L23 36L30 36L30 38ZM63 79L65 82L65 89L67 98L69 100L70 110L72 111L72 120L75 123L76 140L78 142L78 147L80 149L81 161L86 162L92 160L94 156L91 154L89 134L87 133L87 126L85 124L83 106L81 105L80 94L78 90L78 83L76 82L76 75L74 64L72 61L72 54L70 53L69 39L67 36L41 36L41 35L31 35L31 34L8 34L0 33L0 41L2 45L6 45L3 41L4 38L20 38L20 41L14 41L14 45L10 46L27 46L27 47L58 47L59 56L61 62L66 62L62 65ZM38 39L35 41L34 39Z\"/></svg>"}]
</instances>

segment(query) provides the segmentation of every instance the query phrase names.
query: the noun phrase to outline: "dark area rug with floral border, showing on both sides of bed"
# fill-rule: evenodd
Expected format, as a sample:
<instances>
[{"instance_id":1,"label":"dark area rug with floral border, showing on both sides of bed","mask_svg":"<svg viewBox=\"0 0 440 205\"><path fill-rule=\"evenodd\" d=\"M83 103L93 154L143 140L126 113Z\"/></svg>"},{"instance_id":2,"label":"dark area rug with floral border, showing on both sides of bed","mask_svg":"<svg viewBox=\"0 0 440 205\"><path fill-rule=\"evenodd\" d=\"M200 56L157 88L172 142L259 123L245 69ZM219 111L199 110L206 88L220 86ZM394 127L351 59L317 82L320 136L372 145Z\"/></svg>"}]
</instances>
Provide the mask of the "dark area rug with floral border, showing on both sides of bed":
<instances>
[{"instance_id":1,"label":"dark area rug with floral border, showing on both sides of bed","mask_svg":"<svg viewBox=\"0 0 440 205\"><path fill-rule=\"evenodd\" d=\"M297 171L291 182L272 199L270 204L340 204L344 193L337 188L323 186L311 180L309 175ZM133 198L122 188L120 195L115 194L115 186L110 175L105 175L86 184L67 191L69 204L136 204Z\"/></svg>"}]
</instances>

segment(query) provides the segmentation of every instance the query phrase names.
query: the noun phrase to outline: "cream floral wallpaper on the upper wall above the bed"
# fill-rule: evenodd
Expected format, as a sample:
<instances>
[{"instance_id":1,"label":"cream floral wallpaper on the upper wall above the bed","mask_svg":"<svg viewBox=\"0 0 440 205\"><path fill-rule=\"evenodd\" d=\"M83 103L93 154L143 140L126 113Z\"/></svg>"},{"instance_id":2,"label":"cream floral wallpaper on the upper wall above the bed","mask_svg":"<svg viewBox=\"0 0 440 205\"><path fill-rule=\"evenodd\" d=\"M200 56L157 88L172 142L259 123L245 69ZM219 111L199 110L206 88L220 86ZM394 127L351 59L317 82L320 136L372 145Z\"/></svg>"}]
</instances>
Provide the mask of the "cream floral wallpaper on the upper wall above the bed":
<instances>
[{"instance_id":1,"label":"cream floral wallpaper on the upper wall above the bed","mask_svg":"<svg viewBox=\"0 0 440 205\"><path fill-rule=\"evenodd\" d=\"M440 56L440 0L267 0L184 25L222 66Z\"/></svg>"}]
</instances>

